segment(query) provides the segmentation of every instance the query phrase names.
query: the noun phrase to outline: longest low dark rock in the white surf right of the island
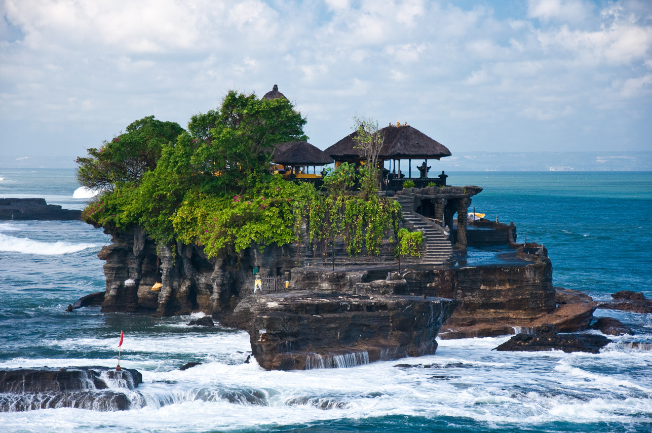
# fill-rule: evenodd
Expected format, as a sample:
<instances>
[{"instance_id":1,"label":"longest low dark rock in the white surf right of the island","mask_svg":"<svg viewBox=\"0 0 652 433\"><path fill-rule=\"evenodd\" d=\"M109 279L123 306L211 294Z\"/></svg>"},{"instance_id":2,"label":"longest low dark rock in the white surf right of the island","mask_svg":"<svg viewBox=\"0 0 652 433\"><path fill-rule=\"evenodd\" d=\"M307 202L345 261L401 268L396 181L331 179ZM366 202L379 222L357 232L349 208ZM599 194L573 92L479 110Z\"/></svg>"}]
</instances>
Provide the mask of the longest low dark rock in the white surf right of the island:
<instances>
[{"instance_id":1,"label":"longest low dark rock in the white surf right of the island","mask_svg":"<svg viewBox=\"0 0 652 433\"><path fill-rule=\"evenodd\" d=\"M557 334L550 323L537 327L534 334L518 334L496 348L500 351L563 350L566 353L584 351L598 353L612 340L594 334Z\"/></svg>"}]
</instances>

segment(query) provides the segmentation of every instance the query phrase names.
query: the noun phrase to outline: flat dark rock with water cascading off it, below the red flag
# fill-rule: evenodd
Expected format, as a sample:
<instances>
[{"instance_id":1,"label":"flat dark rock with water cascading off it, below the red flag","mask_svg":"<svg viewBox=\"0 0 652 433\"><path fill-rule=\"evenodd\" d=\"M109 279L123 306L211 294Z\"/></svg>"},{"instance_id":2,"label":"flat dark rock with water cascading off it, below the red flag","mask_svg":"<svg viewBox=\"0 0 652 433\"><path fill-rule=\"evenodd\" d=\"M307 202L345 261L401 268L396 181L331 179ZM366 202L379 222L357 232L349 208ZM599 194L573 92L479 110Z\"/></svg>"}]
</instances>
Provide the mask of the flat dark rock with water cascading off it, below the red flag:
<instances>
[{"instance_id":1,"label":"flat dark rock with water cascading off it, below the red flag","mask_svg":"<svg viewBox=\"0 0 652 433\"><path fill-rule=\"evenodd\" d=\"M80 408L98 411L140 407L138 370L68 367L0 371L0 411ZM124 389L125 391L116 391Z\"/></svg>"}]
</instances>

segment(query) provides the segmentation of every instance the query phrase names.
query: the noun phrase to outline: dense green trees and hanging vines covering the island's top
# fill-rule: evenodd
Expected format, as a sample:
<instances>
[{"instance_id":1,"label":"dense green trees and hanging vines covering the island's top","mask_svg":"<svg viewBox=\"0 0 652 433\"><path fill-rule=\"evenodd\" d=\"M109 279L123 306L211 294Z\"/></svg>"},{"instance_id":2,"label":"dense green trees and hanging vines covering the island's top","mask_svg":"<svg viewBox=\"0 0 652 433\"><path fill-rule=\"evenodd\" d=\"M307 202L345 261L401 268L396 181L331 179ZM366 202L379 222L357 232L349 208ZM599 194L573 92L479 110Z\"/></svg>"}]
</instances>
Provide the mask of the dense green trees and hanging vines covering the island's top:
<instances>
[{"instance_id":1,"label":"dense green trees and hanging vines covering the island's top","mask_svg":"<svg viewBox=\"0 0 652 433\"><path fill-rule=\"evenodd\" d=\"M173 138L156 142L156 152L141 153L143 161L145 156L151 160L138 176L107 184L104 173L87 170L100 162L125 164L125 158L105 161L104 153L117 155L118 143L147 149L155 139L138 131L169 124L153 117L139 122L140 128L131 128L134 123L127 134L105 143L101 157L80 158L84 185L105 185L105 192L84 209L85 222L110 230L135 224L161 244L202 245L209 258L237 254L251 245L299 241L325 251L338 235L344 237L348 254L379 254L383 237L398 229L397 202L376 194L349 195L358 181L352 164L342 164L325 178L329 195L270 174L275 143L306 139L305 119L288 100L259 100L231 91L218 109L194 115L188 130L170 127ZM304 239L301 226L306 220Z\"/></svg>"}]
</instances>

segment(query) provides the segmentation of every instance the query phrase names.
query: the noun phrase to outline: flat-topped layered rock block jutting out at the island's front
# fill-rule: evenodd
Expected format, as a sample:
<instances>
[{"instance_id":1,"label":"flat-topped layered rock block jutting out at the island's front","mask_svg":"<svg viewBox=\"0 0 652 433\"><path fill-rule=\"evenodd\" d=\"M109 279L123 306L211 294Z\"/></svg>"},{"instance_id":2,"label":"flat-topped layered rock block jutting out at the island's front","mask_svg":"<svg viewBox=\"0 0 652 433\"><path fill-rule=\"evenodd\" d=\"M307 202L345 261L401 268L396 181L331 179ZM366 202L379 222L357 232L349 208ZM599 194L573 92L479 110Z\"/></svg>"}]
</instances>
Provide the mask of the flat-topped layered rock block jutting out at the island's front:
<instances>
[{"instance_id":1,"label":"flat-topped layered rock block jutting out at the island's front","mask_svg":"<svg viewBox=\"0 0 652 433\"><path fill-rule=\"evenodd\" d=\"M458 305L453 299L419 296L264 295L250 307L252 354L265 370L432 355L441 324Z\"/></svg>"}]
</instances>

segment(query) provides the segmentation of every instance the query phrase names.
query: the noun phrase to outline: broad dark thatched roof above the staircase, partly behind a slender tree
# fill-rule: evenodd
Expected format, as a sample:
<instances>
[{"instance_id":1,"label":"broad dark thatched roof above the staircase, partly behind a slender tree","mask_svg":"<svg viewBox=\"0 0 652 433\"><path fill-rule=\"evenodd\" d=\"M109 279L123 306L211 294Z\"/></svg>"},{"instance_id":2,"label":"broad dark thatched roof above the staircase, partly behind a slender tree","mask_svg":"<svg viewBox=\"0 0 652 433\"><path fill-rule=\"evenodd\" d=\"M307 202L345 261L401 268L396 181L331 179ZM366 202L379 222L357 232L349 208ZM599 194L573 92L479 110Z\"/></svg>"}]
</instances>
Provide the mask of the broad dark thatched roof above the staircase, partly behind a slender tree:
<instances>
[{"instance_id":1,"label":"broad dark thatched roof above the staircase, partly behind a slender tree","mask_svg":"<svg viewBox=\"0 0 652 433\"><path fill-rule=\"evenodd\" d=\"M432 140L420 130L410 127L385 127L379 131L385 138L383 148L380 151L381 159L439 159L450 157L451 151L445 145ZM336 160L357 159L360 154L354 149L356 143L353 138L357 131L342 138L339 142L325 150Z\"/></svg>"}]
</instances>

